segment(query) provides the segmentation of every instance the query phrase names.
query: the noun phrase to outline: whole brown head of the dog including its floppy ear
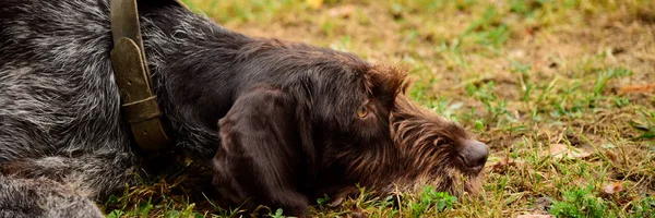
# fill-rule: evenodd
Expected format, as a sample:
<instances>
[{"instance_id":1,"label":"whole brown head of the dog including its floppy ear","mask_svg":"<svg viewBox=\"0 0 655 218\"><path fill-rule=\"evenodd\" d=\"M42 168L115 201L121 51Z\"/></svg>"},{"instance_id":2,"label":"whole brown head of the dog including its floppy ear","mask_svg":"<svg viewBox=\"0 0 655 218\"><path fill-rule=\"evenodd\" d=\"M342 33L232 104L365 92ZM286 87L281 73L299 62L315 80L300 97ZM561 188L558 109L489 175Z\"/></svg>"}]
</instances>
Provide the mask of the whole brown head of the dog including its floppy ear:
<instances>
[{"instance_id":1,"label":"whole brown head of the dog including its floppy ear","mask_svg":"<svg viewBox=\"0 0 655 218\"><path fill-rule=\"evenodd\" d=\"M238 62L247 85L219 121L214 158L214 184L233 199L295 205L355 184L478 191L487 146L412 102L403 71L275 40L242 49Z\"/></svg>"}]
</instances>

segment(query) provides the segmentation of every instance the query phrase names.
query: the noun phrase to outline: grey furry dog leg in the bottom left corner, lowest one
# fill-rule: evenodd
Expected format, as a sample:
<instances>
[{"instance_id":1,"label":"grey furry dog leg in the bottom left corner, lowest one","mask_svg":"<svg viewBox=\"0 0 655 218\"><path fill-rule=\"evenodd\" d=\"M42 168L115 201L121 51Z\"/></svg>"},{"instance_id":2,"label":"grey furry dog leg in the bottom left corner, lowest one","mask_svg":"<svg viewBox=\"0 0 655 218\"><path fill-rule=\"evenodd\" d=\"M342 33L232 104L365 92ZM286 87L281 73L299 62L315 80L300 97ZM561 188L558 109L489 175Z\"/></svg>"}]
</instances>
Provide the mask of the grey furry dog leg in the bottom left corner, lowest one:
<instances>
[{"instance_id":1,"label":"grey furry dog leg in the bottom left corner, lowest one","mask_svg":"<svg viewBox=\"0 0 655 218\"><path fill-rule=\"evenodd\" d=\"M84 193L48 179L0 175L0 218L104 217Z\"/></svg>"}]
</instances>

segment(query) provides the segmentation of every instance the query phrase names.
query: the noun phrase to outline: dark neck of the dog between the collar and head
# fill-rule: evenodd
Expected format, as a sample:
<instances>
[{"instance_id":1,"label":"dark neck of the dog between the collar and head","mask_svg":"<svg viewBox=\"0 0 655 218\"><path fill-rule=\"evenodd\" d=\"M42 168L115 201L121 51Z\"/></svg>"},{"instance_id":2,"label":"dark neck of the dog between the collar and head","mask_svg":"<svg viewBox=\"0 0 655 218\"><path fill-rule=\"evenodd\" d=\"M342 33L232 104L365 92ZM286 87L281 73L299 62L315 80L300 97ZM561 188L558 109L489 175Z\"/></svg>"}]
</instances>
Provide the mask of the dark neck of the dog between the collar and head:
<instances>
[{"instance_id":1,"label":"dark neck of the dog between the collar and head","mask_svg":"<svg viewBox=\"0 0 655 218\"><path fill-rule=\"evenodd\" d=\"M215 53L236 53L225 50L239 49L251 39L183 8L158 8L140 13L145 56L164 121L175 130L172 137L184 150L209 158L218 144L216 123L231 106L226 104L231 99L213 98L229 95L212 92L227 85L227 81L217 77L221 75L217 72L227 70L230 59L235 58L215 57Z\"/></svg>"}]
</instances>

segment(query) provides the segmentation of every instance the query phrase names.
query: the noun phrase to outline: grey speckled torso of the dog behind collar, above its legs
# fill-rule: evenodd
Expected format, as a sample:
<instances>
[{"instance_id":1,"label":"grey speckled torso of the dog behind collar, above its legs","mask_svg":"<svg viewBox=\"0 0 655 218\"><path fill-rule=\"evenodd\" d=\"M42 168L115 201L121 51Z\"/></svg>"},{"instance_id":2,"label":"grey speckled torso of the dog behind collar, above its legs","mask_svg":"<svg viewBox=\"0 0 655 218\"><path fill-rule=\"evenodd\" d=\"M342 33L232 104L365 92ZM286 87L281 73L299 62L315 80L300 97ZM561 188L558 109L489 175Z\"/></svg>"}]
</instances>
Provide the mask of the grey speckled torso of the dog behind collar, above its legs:
<instances>
[{"instance_id":1,"label":"grey speckled torso of the dog behind collar, above its legs","mask_svg":"<svg viewBox=\"0 0 655 218\"><path fill-rule=\"evenodd\" d=\"M9 0L0 10L0 162L127 149L108 2Z\"/></svg>"}]
</instances>

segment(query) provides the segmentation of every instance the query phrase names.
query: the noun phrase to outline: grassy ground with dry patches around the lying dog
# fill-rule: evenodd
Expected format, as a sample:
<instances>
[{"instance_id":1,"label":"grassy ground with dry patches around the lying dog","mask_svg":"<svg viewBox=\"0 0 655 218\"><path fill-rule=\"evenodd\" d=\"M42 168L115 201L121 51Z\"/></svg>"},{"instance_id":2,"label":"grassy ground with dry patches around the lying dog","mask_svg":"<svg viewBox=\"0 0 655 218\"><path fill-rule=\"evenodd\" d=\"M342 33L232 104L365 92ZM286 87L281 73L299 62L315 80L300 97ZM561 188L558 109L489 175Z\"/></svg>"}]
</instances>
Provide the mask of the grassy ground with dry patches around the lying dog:
<instances>
[{"instance_id":1,"label":"grassy ground with dry patches around the lying dog","mask_svg":"<svg viewBox=\"0 0 655 218\"><path fill-rule=\"evenodd\" d=\"M491 148L484 192L366 195L315 217L655 217L655 2L184 0L252 36L409 70L409 94ZM110 217L213 217L206 170L126 189ZM398 203L400 201L400 203ZM267 208L262 208L266 210ZM272 217L284 211L271 208Z\"/></svg>"}]
</instances>

